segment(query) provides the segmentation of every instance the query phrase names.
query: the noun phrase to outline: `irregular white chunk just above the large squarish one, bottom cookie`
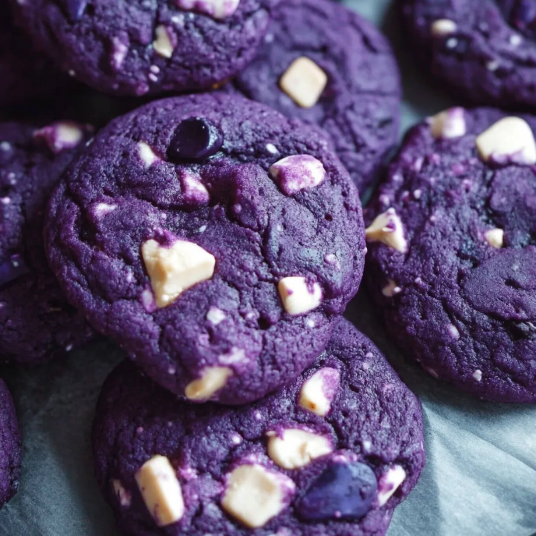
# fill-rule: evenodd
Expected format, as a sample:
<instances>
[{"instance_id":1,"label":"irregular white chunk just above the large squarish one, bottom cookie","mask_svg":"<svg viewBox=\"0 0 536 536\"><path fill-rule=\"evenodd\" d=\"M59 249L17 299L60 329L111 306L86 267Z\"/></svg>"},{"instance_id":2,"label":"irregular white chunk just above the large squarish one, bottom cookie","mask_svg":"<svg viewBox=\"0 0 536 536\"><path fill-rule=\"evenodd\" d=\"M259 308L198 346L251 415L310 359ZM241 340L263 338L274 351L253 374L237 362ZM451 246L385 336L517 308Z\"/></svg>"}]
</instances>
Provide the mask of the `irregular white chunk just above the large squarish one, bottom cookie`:
<instances>
[{"instance_id":1,"label":"irregular white chunk just above the large squarish one, bottom cookie","mask_svg":"<svg viewBox=\"0 0 536 536\"><path fill-rule=\"evenodd\" d=\"M333 445L327 437L299 428L284 430L282 437L274 432L267 435L268 456L284 469L299 469L333 452Z\"/></svg>"}]
</instances>

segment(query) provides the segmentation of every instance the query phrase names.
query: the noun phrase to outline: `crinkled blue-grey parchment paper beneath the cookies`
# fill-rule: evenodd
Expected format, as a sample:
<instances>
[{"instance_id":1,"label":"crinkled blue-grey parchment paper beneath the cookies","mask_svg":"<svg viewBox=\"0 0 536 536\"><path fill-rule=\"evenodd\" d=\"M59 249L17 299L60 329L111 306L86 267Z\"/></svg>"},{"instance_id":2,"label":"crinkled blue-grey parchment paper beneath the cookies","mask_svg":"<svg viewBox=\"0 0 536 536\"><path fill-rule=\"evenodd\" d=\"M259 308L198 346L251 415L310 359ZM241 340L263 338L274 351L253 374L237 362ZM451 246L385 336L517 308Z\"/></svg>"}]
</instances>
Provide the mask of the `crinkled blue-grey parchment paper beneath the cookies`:
<instances>
[{"instance_id":1,"label":"crinkled blue-grey parchment paper beneath the cookies","mask_svg":"<svg viewBox=\"0 0 536 536\"><path fill-rule=\"evenodd\" d=\"M285 1L285 0L283 0ZM348 5L373 20L398 51L389 0ZM454 104L407 53L404 129ZM388 343L363 292L347 316L384 350L421 398L427 466L394 514L389 536L530 536L536 532L536 407L490 404L450 392ZM0 511L0 536L117 536L93 478L90 430L100 386L121 351L99 340L63 360L2 371L18 408L24 466L18 495Z\"/></svg>"}]
</instances>

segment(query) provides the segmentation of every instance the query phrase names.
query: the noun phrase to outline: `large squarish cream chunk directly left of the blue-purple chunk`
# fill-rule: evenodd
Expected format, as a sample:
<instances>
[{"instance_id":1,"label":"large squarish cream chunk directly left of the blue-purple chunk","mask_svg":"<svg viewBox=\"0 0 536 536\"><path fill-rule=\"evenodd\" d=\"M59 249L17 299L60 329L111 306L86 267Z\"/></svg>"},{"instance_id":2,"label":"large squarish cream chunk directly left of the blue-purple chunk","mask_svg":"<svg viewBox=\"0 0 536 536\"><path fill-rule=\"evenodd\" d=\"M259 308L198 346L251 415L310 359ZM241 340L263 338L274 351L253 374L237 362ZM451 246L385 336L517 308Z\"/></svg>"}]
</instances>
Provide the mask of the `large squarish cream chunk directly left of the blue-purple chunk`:
<instances>
[{"instance_id":1,"label":"large squarish cream chunk directly left of the blue-purple chunk","mask_svg":"<svg viewBox=\"0 0 536 536\"><path fill-rule=\"evenodd\" d=\"M241 465L227 475L224 510L249 528L264 526L288 506L294 482L262 465Z\"/></svg>"}]
</instances>

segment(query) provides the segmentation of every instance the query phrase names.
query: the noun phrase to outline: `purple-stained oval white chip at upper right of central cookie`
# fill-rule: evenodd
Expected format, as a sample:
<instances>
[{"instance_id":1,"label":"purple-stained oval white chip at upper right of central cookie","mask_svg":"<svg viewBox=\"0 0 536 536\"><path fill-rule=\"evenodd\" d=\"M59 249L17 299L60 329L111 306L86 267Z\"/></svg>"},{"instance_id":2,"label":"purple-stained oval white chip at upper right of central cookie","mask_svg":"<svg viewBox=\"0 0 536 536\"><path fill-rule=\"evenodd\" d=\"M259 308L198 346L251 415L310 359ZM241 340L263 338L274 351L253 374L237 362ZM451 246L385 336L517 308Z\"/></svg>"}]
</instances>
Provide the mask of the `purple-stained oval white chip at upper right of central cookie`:
<instances>
[{"instance_id":1,"label":"purple-stained oval white chip at upper right of central cookie","mask_svg":"<svg viewBox=\"0 0 536 536\"><path fill-rule=\"evenodd\" d=\"M315 188L326 177L323 163L309 154L294 154L273 163L270 176L289 196L304 189Z\"/></svg>"}]
</instances>

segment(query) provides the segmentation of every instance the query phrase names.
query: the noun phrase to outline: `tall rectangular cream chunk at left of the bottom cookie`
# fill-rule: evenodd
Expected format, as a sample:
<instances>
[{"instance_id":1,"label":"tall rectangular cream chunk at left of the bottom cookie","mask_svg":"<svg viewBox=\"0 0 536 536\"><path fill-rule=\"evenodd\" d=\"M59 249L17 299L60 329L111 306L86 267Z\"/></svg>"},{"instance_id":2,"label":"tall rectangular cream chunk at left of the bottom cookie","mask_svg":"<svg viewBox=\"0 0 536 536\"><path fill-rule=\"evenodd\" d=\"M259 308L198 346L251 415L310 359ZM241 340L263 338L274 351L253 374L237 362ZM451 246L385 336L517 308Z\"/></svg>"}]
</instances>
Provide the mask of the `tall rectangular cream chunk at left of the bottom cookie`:
<instances>
[{"instance_id":1,"label":"tall rectangular cream chunk at left of the bottom cookie","mask_svg":"<svg viewBox=\"0 0 536 536\"><path fill-rule=\"evenodd\" d=\"M153 456L136 472L143 500L159 527L177 522L184 515L182 489L175 470L165 456Z\"/></svg>"}]
</instances>

